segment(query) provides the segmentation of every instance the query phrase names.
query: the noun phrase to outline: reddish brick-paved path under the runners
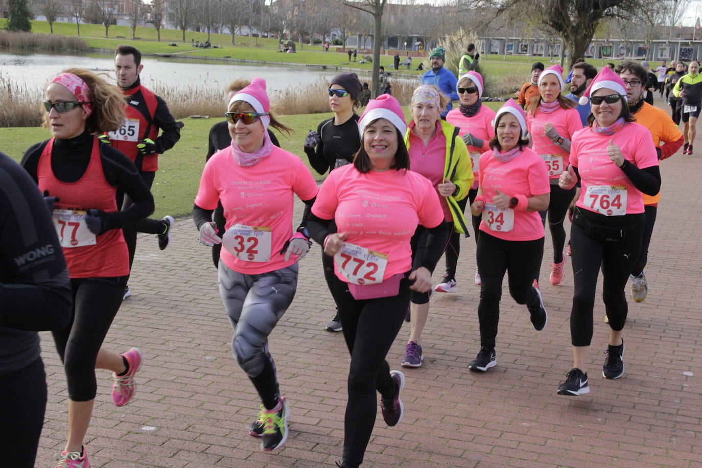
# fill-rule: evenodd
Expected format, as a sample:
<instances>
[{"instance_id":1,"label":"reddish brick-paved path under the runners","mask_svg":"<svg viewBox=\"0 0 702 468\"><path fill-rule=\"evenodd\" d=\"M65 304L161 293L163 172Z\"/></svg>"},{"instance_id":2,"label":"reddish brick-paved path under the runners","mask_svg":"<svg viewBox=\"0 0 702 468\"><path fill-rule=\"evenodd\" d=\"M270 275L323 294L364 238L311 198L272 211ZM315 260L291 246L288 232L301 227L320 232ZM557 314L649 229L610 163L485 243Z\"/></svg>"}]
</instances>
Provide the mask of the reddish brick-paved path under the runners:
<instances>
[{"instance_id":1,"label":"reddish brick-paved path under the runners","mask_svg":"<svg viewBox=\"0 0 702 468\"><path fill-rule=\"evenodd\" d=\"M573 283L567 265L562 286L548 284L548 260L542 272L548 326L535 332L527 310L503 297L498 366L470 373L468 361L479 349L479 290L475 244L464 239L459 292L432 301L421 342L424 366L404 371L404 420L388 428L378 415L364 466L702 466L702 156L678 153L663 162L662 173L646 269L650 292L646 302L629 303L621 379L604 380L600 372L608 330L600 289L591 392L555 394L571 366ZM123 408L110 399L110 373L98 371L86 438L93 467L333 465L342 451L349 359L342 335L323 330L332 302L319 257L314 246L303 260L295 301L272 334L291 435L281 450L262 453L245 430L260 402L230 354L210 250L197 244L190 218L178 220L163 252L153 236L141 237L129 283L133 296L106 343L118 352L140 347L145 366L135 400ZM408 334L405 324L388 355L391 368L399 368ZM53 468L65 443L67 396L51 337L42 339L49 402L37 467Z\"/></svg>"}]
</instances>

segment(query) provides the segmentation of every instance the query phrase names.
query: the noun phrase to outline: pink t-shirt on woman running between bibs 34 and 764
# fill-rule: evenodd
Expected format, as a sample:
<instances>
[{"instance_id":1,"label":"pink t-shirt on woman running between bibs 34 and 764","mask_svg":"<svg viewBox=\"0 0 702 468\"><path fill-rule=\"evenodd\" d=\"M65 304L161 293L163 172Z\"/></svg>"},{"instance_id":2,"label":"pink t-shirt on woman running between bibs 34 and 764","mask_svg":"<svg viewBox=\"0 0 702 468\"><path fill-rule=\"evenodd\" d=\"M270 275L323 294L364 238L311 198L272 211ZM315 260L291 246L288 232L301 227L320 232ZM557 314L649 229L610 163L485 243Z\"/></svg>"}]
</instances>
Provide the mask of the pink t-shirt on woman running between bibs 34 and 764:
<instances>
[{"instance_id":1,"label":"pink t-shirt on woman running between bibs 34 and 764","mask_svg":"<svg viewBox=\"0 0 702 468\"><path fill-rule=\"evenodd\" d=\"M531 133L531 139L534 140L531 149L534 149L534 152L541 156L546 163L548 176L557 179L568 167L569 154L545 135L543 128L546 123L550 123L562 138L573 140L576 131L583 128L583 122L576 109L559 107L550 114L545 114L541 112L540 106L536 109L536 115L527 114L527 130Z\"/></svg>"}]
</instances>

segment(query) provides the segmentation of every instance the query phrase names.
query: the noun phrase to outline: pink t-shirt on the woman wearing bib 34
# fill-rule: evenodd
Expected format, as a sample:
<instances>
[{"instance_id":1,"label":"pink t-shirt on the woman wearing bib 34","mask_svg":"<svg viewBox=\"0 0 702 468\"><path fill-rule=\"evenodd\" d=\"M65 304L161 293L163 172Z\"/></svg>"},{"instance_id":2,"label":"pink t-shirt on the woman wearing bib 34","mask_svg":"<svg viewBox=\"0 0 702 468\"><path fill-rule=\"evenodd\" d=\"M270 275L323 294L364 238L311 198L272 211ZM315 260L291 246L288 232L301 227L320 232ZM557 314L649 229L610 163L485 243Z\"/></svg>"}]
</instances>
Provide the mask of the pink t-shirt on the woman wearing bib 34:
<instances>
[{"instance_id":1,"label":"pink t-shirt on the woman wearing bib 34","mask_svg":"<svg viewBox=\"0 0 702 468\"><path fill-rule=\"evenodd\" d=\"M534 151L525 147L522 154L507 163L501 163L492 150L480 156L480 188L485 201L491 203L495 191L516 196L550 194L546 163ZM514 215L514 228L508 232L493 230L485 222L480 222L480 230L505 241L534 241L543 237L541 216L536 211L508 210ZM487 215L484 212L484 215ZM512 213L510 213L512 215Z\"/></svg>"}]
</instances>

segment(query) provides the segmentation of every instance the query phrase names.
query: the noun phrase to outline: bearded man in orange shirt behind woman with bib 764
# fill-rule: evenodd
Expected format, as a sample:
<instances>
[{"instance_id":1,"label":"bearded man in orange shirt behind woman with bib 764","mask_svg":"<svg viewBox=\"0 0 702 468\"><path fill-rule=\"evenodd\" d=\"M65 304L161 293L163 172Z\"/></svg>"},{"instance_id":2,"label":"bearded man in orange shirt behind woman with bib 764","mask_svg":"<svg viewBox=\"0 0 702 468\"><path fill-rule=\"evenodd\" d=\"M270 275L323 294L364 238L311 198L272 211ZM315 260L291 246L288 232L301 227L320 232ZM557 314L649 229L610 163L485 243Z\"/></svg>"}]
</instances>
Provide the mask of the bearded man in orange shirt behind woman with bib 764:
<instances>
[{"instance_id":1,"label":"bearded man in orange shirt behind woman with bib 764","mask_svg":"<svg viewBox=\"0 0 702 468\"><path fill-rule=\"evenodd\" d=\"M625 61L617 65L614 72L624 81L626 86L626 101L629 111L636 117L636 123L646 127L651 132L651 137L658 152L658 159L666 159L673 156L682 146L684 138L672 119L663 109L658 109L644 102L643 92L648 74L641 65ZM644 214L646 215L646 226L641 242L641 253L639 260L634 265L631 272L631 295L636 302L643 302L648 293L648 283L644 276L644 267L648 257L651 234L656 222L656 212L658 211L658 201L661 201L661 193L654 196L644 194Z\"/></svg>"}]
</instances>

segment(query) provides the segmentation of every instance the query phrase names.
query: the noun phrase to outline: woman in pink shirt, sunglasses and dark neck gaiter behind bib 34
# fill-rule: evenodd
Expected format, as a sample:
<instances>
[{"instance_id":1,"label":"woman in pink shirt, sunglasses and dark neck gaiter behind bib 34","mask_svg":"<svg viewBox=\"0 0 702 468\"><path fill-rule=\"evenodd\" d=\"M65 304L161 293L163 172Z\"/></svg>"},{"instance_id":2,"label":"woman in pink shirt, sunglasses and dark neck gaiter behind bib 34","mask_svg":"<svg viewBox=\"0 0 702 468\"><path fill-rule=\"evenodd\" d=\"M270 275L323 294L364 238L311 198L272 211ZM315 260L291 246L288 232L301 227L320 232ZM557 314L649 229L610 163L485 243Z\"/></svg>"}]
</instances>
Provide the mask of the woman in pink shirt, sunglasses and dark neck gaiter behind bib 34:
<instances>
[{"instance_id":1,"label":"woman in pink shirt, sunglasses and dark neck gaiter behind bib 34","mask_svg":"<svg viewBox=\"0 0 702 468\"><path fill-rule=\"evenodd\" d=\"M458 201L458 206L461 207L462 211L465 211L468 201L472 204L478 193L480 154L490 149L489 141L495 136L495 129L492 126L492 121L495 119L495 111L482 105L480 98L483 93L483 81L482 75L478 72L468 72L461 76L456 84L456 91L458 91L458 97L461 99L461 105L456 109L451 109L446 114L446 121L458 127L458 135L463 137L463 141L468 147L473 176L475 177L475 181L468 191L468 197ZM475 234L475 243L477 244L478 236L480 235L481 218L479 216L471 216L470 218L473 225L473 234ZM458 265L459 253L461 253L461 243L458 238L458 232L453 232L451 233L451 239L449 239L449 246L446 247L446 274L444 275L444 281L435 288L437 293L456 292L456 265ZM480 286L480 273L477 267L475 267L475 284Z\"/></svg>"}]
</instances>

